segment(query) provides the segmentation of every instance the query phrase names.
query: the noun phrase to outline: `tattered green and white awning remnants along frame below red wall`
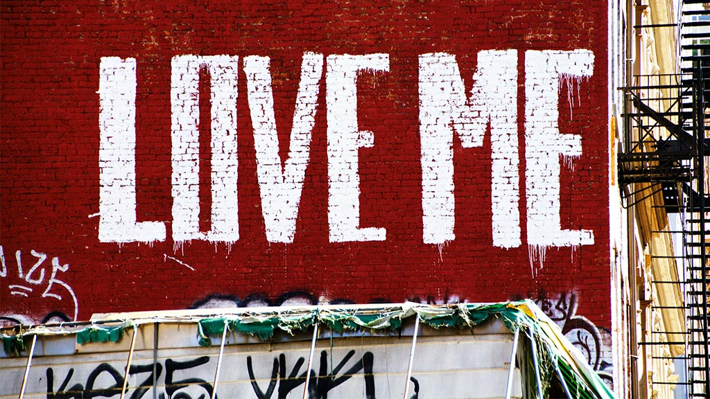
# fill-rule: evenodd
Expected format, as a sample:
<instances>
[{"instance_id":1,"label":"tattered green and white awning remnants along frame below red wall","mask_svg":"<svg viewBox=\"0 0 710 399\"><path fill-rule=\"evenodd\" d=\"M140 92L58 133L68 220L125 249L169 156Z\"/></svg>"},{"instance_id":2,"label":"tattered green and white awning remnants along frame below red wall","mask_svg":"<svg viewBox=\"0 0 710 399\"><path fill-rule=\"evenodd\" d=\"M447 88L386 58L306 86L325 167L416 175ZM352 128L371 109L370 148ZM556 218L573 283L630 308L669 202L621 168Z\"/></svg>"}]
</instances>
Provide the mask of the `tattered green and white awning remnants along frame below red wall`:
<instances>
[{"instance_id":1,"label":"tattered green and white awning remnants along frame below red wall","mask_svg":"<svg viewBox=\"0 0 710 399\"><path fill-rule=\"evenodd\" d=\"M611 390L586 364L557 324L530 300L492 304L421 305L405 302L135 312L107 315L92 322L6 328L1 330L1 337L6 353L19 356L26 350L26 341L31 341L34 336L75 334L77 344L116 342L124 336L126 329L148 323L196 323L200 344L209 346L210 337L223 336L225 327L229 331L266 340L277 331L294 334L315 324L329 327L334 332L396 331L409 317L417 317L420 323L435 329L469 328L496 318L503 321L516 337L524 334L531 350L518 353L518 361L523 356L525 363L520 365L523 397L540 398L542 395L542 398L549 398L553 381L558 381L569 398L613 398Z\"/></svg>"}]
</instances>

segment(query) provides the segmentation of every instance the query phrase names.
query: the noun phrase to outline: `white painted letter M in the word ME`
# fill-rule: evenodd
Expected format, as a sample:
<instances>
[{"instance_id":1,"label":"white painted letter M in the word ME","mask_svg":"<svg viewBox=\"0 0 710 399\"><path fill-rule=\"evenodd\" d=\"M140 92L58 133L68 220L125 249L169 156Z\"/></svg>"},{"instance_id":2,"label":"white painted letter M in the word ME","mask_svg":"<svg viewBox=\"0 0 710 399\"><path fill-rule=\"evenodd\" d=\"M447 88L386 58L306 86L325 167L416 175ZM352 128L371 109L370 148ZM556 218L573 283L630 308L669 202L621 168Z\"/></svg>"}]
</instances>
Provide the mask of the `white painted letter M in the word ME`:
<instances>
[{"instance_id":1,"label":"white painted letter M in the word ME","mask_svg":"<svg viewBox=\"0 0 710 399\"><path fill-rule=\"evenodd\" d=\"M467 99L454 55L419 57L423 240L444 244L454 236L454 132L464 148L480 147L491 131L493 245L520 246L518 211L518 55L478 53Z\"/></svg>"}]
</instances>

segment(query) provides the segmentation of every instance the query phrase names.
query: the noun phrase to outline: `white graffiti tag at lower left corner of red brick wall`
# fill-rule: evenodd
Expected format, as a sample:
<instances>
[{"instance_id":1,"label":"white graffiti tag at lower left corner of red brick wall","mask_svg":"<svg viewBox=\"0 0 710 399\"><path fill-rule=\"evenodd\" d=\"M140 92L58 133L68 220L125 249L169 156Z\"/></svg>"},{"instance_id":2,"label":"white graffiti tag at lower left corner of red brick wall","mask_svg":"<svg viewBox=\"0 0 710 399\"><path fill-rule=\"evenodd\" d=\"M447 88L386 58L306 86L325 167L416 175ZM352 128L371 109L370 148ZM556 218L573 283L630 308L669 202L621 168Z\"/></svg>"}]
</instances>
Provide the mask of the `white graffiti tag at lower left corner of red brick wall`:
<instances>
[{"instance_id":1,"label":"white graffiti tag at lower left corner of red brick wall","mask_svg":"<svg viewBox=\"0 0 710 399\"><path fill-rule=\"evenodd\" d=\"M79 312L77 296L72 287L60 280L58 274L69 270L68 264L62 264L58 256L54 256L47 261L49 256L46 253L31 250L29 256L21 250L15 252L15 267L11 267L8 258L5 256L3 246L0 246L0 278L7 284L10 295L17 297L31 297L40 295L43 300L58 300L65 306L71 317L67 317L65 312L55 310L44 316L38 315L0 315L0 325L4 324L37 324L38 322L68 321L76 320ZM71 301L70 305L65 304ZM53 319L52 316L58 316ZM65 320L66 319L66 320Z\"/></svg>"}]
</instances>

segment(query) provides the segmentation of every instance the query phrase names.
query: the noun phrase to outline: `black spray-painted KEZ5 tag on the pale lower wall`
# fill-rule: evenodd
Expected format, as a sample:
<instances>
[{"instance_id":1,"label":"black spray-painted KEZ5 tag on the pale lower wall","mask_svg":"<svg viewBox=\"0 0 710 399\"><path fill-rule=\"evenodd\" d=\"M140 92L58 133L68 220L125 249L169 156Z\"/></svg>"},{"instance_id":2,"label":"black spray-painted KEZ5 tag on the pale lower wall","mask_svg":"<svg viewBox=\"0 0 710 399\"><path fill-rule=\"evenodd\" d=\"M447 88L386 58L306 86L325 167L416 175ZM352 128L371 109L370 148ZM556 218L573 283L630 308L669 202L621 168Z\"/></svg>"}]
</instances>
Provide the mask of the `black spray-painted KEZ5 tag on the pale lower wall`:
<instances>
[{"instance_id":1,"label":"black spray-painted KEZ5 tag on the pale lower wall","mask_svg":"<svg viewBox=\"0 0 710 399\"><path fill-rule=\"evenodd\" d=\"M197 359L192 359L188 361L173 361L172 359L165 360L165 393L160 393L158 396L160 399L165 399L167 394L168 398L171 399L192 399L190 393L187 393L183 388L188 388L192 386L197 386L204 390L197 399L212 398L212 384L204 381L200 378L184 378L182 380L175 379L175 373L182 371L182 374L187 373L191 368L202 366L209 362L208 356L198 357ZM160 374L163 373L162 364L144 364L144 365L131 365L129 373L131 375L135 374L145 374L146 378L141 381L133 389L130 396L126 393L126 397L129 399L141 399L143 395L148 392L149 389L153 388L153 384L158 380ZM121 388L124 383L123 372L119 372L108 363L99 364L94 370L89 373L87 381L84 385L81 383L75 383L70 388L69 383L74 375L74 368L70 368L65 376L64 381L60 384L57 390L54 389L54 369L47 368L47 399L92 399L96 397L109 398L114 395L121 394ZM97 380L103 383L97 386ZM105 381L109 380L110 383L107 386ZM217 398L217 395L215 395Z\"/></svg>"}]
</instances>

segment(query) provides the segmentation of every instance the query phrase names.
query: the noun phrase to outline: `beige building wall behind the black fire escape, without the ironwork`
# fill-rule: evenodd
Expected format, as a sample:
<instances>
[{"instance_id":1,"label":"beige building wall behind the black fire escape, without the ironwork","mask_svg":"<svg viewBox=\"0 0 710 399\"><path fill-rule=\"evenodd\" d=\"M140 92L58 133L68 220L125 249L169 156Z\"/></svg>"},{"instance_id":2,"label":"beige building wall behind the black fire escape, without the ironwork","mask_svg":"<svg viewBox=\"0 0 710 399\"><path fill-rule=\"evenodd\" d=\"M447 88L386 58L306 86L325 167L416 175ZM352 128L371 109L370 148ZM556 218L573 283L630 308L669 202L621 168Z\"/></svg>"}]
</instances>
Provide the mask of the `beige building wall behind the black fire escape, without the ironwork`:
<instances>
[{"instance_id":1,"label":"beige building wall behind the black fire escape, without the ironwork","mask_svg":"<svg viewBox=\"0 0 710 399\"><path fill-rule=\"evenodd\" d=\"M626 18L626 51L631 62L625 65L630 72L626 87L645 87L635 89L635 94L652 109L667 111L673 106L677 90L657 87L676 84L678 79L673 1L627 2ZM635 111L630 104L622 109ZM646 119L644 124L649 121ZM633 141L638 141L640 131L633 122L620 125L611 132L612 138L618 138L612 143L617 152L629 151L622 148L620 136L630 134ZM652 134L665 138L667 131L659 127ZM650 150L648 145L642 148ZM618 243L617 251L623 248L624 252L616 254L624 266L613 270L613 292L618 301L614 315L618 328L614 333L618 341L626 342L616 350L618 368L626 368L626 373L618 373L615 381L620 398L674 398L674 383L679 376L672 358L684 354L684 346L674 344L684 341L684 300L680 285L668 283L679 281L669 215L663 207L662 194L651 194L654 188L636 183L633 190L638 194L628 200L635 204L616 212L626 227L612 241Z\"/></svg>"}]
</instances>

